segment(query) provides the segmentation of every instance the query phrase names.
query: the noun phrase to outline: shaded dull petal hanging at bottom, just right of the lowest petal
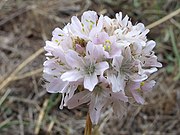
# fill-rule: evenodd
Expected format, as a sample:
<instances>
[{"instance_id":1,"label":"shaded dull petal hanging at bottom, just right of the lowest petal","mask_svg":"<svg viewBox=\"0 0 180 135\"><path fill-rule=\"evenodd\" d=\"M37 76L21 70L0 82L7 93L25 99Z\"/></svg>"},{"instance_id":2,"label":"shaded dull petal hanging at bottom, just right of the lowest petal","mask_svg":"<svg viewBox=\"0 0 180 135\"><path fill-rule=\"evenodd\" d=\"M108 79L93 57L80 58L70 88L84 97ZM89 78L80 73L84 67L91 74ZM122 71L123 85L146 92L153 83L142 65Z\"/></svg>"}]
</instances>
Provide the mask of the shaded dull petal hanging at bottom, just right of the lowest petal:
<instances>
[{"instance_id":1,"label":"shaded dull petal hanging at bottom, just right of the lowest petal","mask_svg":"<svg viewBox=\"0 0 180 135\"><path fill-rule=\"evenodd\" d=\"M127 107L122 101L115 100L112 104L112 107L113 113L118 117L118 119L121 119L127 113Z\"/></svg>"}]
</instances>

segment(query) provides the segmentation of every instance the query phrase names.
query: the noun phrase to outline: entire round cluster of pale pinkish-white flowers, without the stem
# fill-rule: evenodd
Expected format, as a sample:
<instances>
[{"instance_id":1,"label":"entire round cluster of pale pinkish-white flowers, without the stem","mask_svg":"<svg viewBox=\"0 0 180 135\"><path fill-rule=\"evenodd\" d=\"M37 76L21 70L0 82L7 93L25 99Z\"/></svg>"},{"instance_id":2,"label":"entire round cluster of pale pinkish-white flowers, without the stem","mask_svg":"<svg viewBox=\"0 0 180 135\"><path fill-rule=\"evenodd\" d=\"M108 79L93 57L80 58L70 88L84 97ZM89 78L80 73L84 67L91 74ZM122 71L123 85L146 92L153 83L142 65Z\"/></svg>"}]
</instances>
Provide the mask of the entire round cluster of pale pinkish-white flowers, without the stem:
<instances>
[{"instance_id":1,"label":"entire round cluster of pale pinkish-white flowers, without the stem","mask_svg":"<svg viewBox=\"0 0 180 135\"><path fill-rule=\"evenodd\" d=\"M145 102L142 94L155 85L147 79L162 66L153 52L156 43L147 41L148 32L121 12L114 19L94 11L84 12L80 20L73 16L46 41L47 91L62 93L61 109L87 103L93 124L108 105L122 117L130 98Z\"/></svg>"}]
</instances>

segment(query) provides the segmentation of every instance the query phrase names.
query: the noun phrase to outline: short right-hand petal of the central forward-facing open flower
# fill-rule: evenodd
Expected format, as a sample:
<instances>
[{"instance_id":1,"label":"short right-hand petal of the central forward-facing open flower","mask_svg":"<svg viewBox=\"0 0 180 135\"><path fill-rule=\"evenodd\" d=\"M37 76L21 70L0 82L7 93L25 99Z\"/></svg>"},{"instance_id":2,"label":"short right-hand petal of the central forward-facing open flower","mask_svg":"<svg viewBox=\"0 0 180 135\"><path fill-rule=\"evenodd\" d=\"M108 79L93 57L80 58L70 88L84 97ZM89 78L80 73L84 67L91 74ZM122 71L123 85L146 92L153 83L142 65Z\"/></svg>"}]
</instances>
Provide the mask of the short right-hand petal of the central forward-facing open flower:
<instances>
[{"instance_id":1,"label":"short right-hand petal of the central forward-facing open flower","mask_svg":"<svg viewBox=\"0 0 180 135\"><path fill-rule=\"evenodd\" d=\"M95 72L97 75L103 74L104 71L108 68L109 64L107 62L99 62L95 64Z\"/></svg>"}]
</instances>

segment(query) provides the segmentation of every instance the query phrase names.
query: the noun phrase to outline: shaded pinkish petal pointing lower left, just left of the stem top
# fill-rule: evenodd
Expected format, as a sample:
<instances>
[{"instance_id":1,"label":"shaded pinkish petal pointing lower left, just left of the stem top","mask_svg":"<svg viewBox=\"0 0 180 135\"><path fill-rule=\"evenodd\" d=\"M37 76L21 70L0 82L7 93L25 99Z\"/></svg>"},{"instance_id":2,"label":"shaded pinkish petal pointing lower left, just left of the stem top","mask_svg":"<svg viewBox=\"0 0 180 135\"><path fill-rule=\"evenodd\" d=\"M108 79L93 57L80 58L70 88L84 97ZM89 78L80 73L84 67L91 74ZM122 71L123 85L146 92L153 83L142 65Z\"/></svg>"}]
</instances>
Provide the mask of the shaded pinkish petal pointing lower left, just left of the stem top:
<instances>
[{"instance_id":1,"label":"shaded pinkish petal pointing lower left, just left of the stem top","mask_svg":"<svg viewBox=\"0 0 180 135\"><path fill-rule=\"evenodd\" d=\"M81 104L87 103L90 101L91 93L88 90L83 90L75 94L71 99L66 103L69 109L75 108Z\"/></svg>"}]
</instances>

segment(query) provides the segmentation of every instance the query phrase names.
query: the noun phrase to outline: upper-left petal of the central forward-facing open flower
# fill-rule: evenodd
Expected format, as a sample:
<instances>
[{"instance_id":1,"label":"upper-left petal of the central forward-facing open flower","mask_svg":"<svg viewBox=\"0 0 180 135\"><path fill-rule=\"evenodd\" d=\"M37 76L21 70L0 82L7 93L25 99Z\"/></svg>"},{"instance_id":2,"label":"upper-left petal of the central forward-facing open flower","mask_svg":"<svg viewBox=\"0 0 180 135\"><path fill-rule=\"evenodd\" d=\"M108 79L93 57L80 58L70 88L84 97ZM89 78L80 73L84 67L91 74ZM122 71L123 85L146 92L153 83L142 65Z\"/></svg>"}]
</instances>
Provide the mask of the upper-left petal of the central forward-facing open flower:
<instances>
[{"instance_id":1,"label":"upper-left petal of the central forward-facing open flower","mask_svg":"<svg viewBox=\"0 0 180 135\"><path fill-rule=\"evenodd\" d=\"M80 56L78 56L78 53L71 50L68 51L68 53L65 55L66 62L71 66L72 68L82 68L84 67L84 61Z\"/></svg>"}]
</instances>

